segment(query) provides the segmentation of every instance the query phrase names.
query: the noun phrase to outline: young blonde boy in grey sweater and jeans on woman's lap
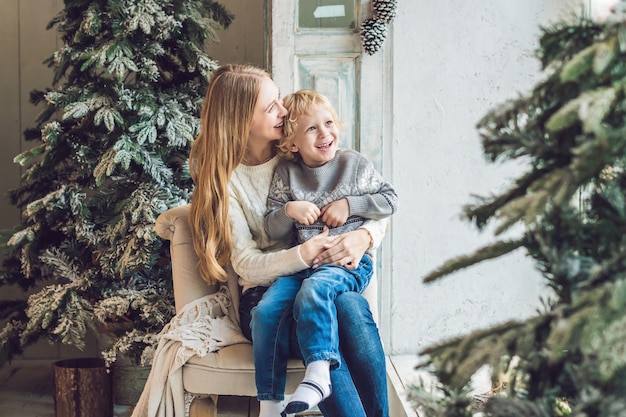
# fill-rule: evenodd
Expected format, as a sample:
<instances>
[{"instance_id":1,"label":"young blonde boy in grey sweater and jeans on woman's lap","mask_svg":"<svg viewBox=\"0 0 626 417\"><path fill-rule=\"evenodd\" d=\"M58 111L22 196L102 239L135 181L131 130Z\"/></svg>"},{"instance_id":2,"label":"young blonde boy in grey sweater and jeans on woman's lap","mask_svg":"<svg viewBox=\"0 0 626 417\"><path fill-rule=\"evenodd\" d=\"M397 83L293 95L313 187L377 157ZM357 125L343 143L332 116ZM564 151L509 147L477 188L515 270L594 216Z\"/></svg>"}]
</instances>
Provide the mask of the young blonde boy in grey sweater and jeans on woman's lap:
<instances>
[{"instance_id":1,"label":"young blonde boy in grey sweater and jeans on woman's lap","mask_svg":"<svg viewBox=\"0 0 626 417\"><path fill-rule=\"evenodd\" d=\"M301 90L285 97L284 106L284 160L274 172L265 217L271 239L302 243L325 228L339 235L396 211L397 195L373 164L356 151L338 149L337 115L325 96ZM284 398L291 315L306 371L284 412L305 411L330 395L330 368L341 365L334 300L367 287L372 250L358 265L314 265L280 277L252 310L260 417L276 415Z\"/></svg>"}]
</instances>

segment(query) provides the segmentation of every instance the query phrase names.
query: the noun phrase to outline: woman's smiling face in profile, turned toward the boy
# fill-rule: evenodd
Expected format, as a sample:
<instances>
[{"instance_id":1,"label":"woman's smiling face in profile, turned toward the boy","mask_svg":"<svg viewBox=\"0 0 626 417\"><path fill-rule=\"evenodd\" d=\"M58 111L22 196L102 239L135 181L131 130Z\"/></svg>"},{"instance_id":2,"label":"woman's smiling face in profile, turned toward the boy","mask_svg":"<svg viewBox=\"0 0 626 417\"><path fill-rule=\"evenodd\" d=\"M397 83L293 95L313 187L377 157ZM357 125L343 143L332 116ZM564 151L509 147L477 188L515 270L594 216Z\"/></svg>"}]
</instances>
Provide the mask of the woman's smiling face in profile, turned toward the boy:
<instances>
[{"instance_id":1,"label":"woman's smiling face in profile, turned toward the boy","mask_svg":"<svg viewBox=\"0 0 626 417\"><path fill-rule=\"evenodd\" d=\"M272 142L280 139L283 136L283 118L286 115L287 110L283 107L278 86L270 78L263 79L252 117L249 140Z\"/></svg>"}]
</instances>

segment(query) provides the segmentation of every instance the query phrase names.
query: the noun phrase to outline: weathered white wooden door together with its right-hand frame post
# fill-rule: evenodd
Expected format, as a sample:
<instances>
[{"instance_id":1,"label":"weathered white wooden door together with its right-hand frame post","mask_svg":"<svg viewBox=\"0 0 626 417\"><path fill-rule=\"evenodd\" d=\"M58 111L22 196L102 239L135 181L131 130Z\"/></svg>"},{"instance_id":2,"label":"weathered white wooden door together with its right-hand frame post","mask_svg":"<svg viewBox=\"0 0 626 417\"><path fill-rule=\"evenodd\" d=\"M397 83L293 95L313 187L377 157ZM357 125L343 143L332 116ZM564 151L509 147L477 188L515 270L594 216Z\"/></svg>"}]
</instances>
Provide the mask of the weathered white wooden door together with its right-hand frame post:
<instances>
[{"instance_id":1,"label":"weathered white wooden door together with its right-hand frame post","mask_svg":"<svg viewBox=\"0 0 626 417\"><path fill-rule=\"evenodd\" d=\"M273 0L270 59L283 94L312 88L327 95L345 124L344 148L382 166L387 101L384 51L363 52L360 26L371 1Z\"/></svg>"}]
</instances>

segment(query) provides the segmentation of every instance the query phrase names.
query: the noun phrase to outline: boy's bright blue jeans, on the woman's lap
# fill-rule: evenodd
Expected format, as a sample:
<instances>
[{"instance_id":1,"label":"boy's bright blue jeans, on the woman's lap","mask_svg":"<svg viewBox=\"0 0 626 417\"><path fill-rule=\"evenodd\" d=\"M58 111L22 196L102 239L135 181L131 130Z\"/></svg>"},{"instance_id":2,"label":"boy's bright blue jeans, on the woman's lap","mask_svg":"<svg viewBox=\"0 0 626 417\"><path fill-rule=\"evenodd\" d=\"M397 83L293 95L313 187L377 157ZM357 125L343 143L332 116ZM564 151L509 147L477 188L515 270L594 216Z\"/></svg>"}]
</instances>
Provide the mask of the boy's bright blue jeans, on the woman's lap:
<instances>
[{"instance_id":1,"label":"boy's bright blue jeans, on the woman's lap","mask_svg":"<svg viewBox=\"0 0 626 417\"><path fill-rule=\"evenodd\" d=\"M257 398L283 400L292 319L305 365L329 360L341 366L335 299L362 292L372 278L372 259L364 255L352 271L336 265L306 269L278 278L251 311Z\"/></svg>"}]
</instances>

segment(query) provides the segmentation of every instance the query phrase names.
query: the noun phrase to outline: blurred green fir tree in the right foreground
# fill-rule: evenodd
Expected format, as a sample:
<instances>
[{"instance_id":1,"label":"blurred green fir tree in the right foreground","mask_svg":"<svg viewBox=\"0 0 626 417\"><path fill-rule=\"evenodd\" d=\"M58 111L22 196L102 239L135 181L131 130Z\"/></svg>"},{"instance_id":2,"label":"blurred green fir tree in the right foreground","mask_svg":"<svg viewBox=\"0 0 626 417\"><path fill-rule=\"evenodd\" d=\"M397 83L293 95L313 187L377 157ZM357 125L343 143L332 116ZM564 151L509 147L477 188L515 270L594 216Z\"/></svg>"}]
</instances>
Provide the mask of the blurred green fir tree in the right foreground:
<instances>
[{"instance_id":1,"label":"blurred green fir tree in the right foreground","mask_svg":"<svg viewBox=\"0 0 626 417\"><path fill-rule=\"evenodd\" d=\"M616 10L602 24L544 28L547 76L478 123L489 161L521 159L527 170L465 215L479 229L494 222L496 235L521 224L523 236L451 259L424 280L523 247L553 292L534 316L423 350L436 390L415 386L412 398L429 415L626 412L626 2ZM493 389L478 404L470 381L484 367Z\"/></svg>"}]
</instances>

